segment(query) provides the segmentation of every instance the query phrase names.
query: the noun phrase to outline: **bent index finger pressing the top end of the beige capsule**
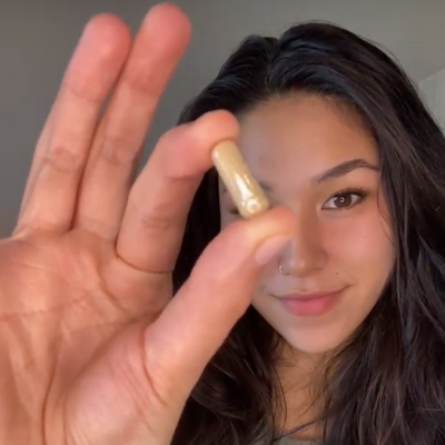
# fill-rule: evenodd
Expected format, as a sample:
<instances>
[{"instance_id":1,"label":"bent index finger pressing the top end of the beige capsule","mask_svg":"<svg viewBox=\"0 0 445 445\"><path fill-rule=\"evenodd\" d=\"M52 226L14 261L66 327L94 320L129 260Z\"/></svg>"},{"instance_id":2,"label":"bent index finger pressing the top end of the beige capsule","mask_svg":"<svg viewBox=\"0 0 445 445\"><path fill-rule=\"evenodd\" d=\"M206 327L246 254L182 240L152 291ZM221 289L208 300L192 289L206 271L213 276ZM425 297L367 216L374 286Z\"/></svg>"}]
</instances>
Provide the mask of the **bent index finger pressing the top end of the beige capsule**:
<instances>
[{"instance_id":1,"label":"bent index finger pressing the top end of the beige capsule","mask_svg":"<svg viewBox=\"0 0 445 445\"><path fill-rule=\"evenodd\" d=\"M237 139L238 131L235 116L216 110L159 140L127 202L116 244L123 261L148 273L172 270L195 192L211 167L211 149Z\"/></svg>"}]
</instances>

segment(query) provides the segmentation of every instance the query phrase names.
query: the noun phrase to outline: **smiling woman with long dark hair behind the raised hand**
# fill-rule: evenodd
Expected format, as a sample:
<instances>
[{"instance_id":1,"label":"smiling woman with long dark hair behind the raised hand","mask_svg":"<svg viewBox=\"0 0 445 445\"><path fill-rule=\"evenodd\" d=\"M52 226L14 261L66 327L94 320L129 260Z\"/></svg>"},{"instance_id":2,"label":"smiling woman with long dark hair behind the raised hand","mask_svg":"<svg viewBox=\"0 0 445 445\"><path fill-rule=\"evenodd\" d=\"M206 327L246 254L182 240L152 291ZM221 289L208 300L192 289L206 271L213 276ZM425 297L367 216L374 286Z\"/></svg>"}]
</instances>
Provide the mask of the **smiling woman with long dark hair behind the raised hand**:
<instances>
[{"instance_id":1,"label":"smiling woman with long dark hair behind the raised hand","mask_svg":"<svg viewBox=\"0 0 445 445\"><path fill-rule=\"evenodd\" d=\"M295 211L296 236L174 443L443 444L445 141L408 78L354 33L305 23L246 39L180 122L216 109L238 117L240 149L271 202ZM209 171L177 288L237 218Z\"/></svg>"}]
</instances>

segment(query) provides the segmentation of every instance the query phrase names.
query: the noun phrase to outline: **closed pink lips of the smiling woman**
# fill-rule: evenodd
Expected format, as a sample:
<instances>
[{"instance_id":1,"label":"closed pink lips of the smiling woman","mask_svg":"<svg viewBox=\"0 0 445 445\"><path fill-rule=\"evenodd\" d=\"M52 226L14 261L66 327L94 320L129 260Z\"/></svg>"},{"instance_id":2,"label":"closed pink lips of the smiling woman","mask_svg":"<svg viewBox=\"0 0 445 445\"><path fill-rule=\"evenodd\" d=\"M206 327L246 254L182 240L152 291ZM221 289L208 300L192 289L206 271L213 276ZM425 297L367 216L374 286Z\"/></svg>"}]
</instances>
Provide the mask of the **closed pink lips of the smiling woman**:
<instances>
[{"instance_id":1,"label":"closed pink lips of the smiling woman","mask_svg":"<svg viewBox=\"0 0 445 445\"><path fill-rule=\"evenodd\" d=\"M334 308L343 290L344 289L313 294L285 294L276 298L287 312L295 316L320 316Z\"/></svg>"}]
</instances>

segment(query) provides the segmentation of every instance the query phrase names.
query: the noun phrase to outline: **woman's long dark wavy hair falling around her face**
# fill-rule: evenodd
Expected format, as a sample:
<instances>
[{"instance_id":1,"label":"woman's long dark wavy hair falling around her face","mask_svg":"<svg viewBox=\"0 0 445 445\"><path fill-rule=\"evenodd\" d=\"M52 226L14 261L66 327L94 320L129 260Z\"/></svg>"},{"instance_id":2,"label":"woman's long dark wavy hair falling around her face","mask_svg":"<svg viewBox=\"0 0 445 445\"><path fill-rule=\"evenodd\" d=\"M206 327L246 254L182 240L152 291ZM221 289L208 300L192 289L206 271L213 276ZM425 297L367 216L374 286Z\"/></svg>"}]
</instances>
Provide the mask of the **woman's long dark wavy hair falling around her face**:
<instances>
[{"instance_id":1,"label":"woman's long dark wavy hair falling around her face","mask_svg":"<svg viewBox=\"0 0 445 445\"><path fill-rule=\"evenodd\" d=\"M251 36L179 122L306 92L348 103L379 150L396 261L379 301L335 357L323 388L324 444L445 443L445 140L397 63L363 38L303 23ZM174 274L178 288L218 234L215 171L192 202ZM249 308L208 365L179 423L177 445L273 444L281 397L271 327ZM328 419L328 421L327 421Z\"/></svg>"}]
</instances>

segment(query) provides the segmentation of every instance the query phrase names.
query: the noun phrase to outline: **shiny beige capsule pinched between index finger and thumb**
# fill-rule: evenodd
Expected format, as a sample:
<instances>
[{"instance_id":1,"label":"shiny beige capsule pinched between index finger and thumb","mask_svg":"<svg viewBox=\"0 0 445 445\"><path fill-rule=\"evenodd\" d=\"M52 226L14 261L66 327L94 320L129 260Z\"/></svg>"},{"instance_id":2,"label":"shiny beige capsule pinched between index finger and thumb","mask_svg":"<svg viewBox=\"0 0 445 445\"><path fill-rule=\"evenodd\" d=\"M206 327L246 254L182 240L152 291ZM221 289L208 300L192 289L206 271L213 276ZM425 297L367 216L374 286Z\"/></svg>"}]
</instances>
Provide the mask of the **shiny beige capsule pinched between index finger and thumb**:
<instances>
[{"instance_id":1,"label":"shiny beige capsule pinched between index finger and thumb","mask_svg":"<svg viewBox=\"0 0 445 445\"><path fill-rule=\"evenodd\" d=\"M234 141L219 142L212 149L211 158L218 175L244 218L251 218L269 208L269 201L264 190L254 178Z\"/></svg>"}]
</instances>

